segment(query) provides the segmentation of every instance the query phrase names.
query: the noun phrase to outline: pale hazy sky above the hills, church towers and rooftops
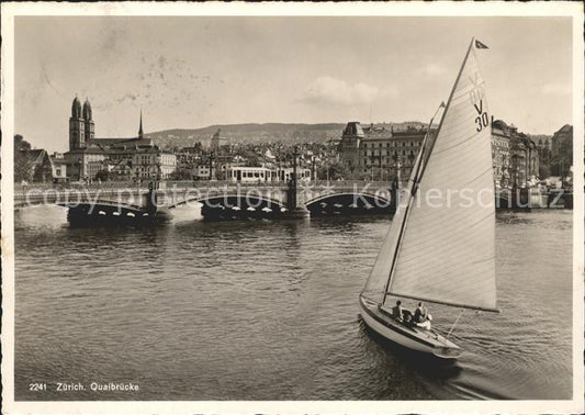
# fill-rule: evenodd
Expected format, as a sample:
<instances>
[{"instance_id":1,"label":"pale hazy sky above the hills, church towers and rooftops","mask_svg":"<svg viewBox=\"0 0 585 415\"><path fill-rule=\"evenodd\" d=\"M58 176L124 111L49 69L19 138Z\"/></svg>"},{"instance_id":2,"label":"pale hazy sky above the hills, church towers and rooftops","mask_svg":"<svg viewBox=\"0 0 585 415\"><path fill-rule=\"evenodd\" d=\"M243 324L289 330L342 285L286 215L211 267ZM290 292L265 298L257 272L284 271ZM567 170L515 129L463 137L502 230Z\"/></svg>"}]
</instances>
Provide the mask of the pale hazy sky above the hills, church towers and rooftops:
<instances>
[{"instance_id":1,"label":"pale hazy sky above the hills, church towers and rooftops","mask_svg":"<svg viewBox=\"0 0 585 415\"><path fill-rule=\"evenodd\" d=\"M570 18L16 16L14 131L95 137L235 123L427 122L470 40L491 113L529 134L572 120Z\"/></svg>"}]
</instances>

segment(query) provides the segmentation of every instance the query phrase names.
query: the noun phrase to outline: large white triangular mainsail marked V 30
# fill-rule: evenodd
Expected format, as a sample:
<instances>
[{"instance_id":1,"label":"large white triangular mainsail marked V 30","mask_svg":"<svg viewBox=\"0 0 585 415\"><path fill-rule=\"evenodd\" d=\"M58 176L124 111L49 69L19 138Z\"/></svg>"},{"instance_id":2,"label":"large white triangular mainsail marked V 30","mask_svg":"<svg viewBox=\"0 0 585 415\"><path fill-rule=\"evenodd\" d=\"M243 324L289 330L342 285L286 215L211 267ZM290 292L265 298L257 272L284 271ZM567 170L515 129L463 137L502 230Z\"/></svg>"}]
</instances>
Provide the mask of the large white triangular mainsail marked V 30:
<instances>
[{"instance_id":1,"label":"large white triangular mainsail marked V 30","mask_svg":"<svg viewBox=\"0 0 585 415\"><path fill-rule=\"evenodd\" d=\"M418 192L394 253L389 293L494 310L491 120L474 45L463 61L428 161L423 160Z\"/></svg>"}]
</instances>

